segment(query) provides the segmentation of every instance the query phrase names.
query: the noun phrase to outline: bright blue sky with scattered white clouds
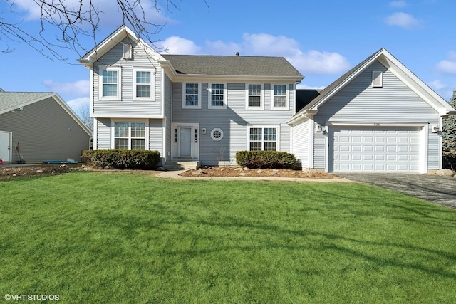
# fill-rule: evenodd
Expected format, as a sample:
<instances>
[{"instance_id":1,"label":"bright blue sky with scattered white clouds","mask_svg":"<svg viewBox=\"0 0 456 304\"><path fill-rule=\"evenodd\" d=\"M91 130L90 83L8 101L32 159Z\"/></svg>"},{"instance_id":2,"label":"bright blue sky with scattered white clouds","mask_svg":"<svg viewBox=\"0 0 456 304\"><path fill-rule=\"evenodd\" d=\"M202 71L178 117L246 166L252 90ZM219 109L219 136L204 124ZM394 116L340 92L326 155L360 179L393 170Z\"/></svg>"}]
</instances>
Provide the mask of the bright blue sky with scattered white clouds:
<instances>
[{"instance_id":1,"label":"bright blue sky with scattered white clouds","mask_svg":"<svg viewBox=\"0 0 456 304\"><path fill-rule=\"evenodd\" d=\"M101 41L120 19L112 0L97 2L109 16L102 16ZM454 0L207 0L209 8L203 0L175 2L179 9L149 8L148 15L167 23L154 38L168 53L284 56L305 76L298 88L324 88L384 47L445 100L456 88ZM0 19L12 18L9 5L0 2ZM39 28L33 0L16 0L14 9L23 26ZM75 110L88 104L89 71L77 53L62 51L68 64L0 37L6 47L14 52L0 54L0 88L56 92Z\"/></svg>"}]
</instances>

